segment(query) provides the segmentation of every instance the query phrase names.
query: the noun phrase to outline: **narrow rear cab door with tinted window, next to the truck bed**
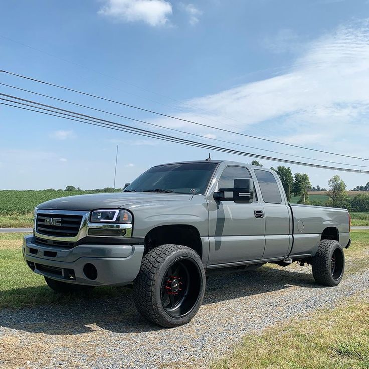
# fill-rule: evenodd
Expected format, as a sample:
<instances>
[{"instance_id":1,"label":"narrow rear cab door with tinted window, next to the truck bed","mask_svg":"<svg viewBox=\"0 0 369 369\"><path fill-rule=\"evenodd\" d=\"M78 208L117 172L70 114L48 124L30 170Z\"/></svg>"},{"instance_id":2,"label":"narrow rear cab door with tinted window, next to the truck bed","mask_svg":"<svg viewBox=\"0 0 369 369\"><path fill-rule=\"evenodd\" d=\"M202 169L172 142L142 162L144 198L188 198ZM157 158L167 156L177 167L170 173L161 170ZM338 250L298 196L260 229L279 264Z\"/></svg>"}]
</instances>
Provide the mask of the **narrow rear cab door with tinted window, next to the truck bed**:
<instances>
[{"instance_id":1,"label":"narrow rear cab door with tinted window, next to the truck bed","mask_svg":"<svg viewBox=\"0 0 369 369\"><path fill-rule=\"evenodd\" d=\"M283 187L270 171L254 169L260 187L265 217L263 259L286 256L292 246L291 213Z\"/></svg>"}]
</instances>

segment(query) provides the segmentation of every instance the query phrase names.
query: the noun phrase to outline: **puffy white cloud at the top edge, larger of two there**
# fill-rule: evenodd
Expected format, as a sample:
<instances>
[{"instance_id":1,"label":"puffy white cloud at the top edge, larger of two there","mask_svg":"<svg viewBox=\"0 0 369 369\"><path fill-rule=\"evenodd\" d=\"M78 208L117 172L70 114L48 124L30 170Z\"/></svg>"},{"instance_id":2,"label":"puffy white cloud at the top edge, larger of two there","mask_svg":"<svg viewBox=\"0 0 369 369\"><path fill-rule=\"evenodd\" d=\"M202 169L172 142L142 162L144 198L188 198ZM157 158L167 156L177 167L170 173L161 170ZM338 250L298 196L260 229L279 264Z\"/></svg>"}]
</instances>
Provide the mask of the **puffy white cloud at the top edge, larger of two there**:
<instances>
[{"instance_id":1,"label":"puffy white cloud at the top edge, larger of two there","mask_svg":"<svg viewBox=\"0 0 369 369\"><path fill-rule=\"evenodd\" d=\"M105 0L105 3L98 13L116 21L163 26L173 13L171 4L165 0Z\"/></svg>"}]
</instances>

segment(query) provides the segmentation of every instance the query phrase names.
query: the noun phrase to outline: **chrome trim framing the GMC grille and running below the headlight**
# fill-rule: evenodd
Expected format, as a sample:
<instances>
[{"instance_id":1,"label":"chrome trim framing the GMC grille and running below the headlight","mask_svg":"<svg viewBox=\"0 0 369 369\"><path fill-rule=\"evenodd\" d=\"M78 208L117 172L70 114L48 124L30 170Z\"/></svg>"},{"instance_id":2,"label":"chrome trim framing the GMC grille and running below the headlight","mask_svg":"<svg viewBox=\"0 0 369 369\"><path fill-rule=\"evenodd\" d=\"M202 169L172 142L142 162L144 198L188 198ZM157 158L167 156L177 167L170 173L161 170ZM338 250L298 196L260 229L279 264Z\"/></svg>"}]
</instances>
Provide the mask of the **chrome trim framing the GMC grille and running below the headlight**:
<instances>
[{"instance_id":1,"label":"chrome trim framing the GMC grille and running below the headlight","mask_svg":"<svg viewBox=\"0 0 369 369\"><path fill-rule=\"evenodd\" d=\"M36 224L36 219L37 219L37 215L38 214L61 214L61 215L81 215L82 216L82 221L81 221L81 225L78 231L77 236L74 237L58 237L58 236L50 236L50 235L44 235L43 233L39 233L37 232L37 224ZM90 215L91 212L86 212L86 211L77 211L77 210L49 210L49 209L38 209L36 212L36 217L34 220L34 234L35 237L38 238L42 238L42 239L46 239L46 240L52 240L52 241L66 241L66 242L77 242L80 239L84 238L84 237L111 237L111 239L115 239L115 238L128 238L128 237L132 237L132 229L133 229L133 225L131 223L92 223L90 222ZM118 228L118 229L126 229L126 234L124 236L89 236L88 235L88 230L90 228Z\"/></svg>"}]
</instances>

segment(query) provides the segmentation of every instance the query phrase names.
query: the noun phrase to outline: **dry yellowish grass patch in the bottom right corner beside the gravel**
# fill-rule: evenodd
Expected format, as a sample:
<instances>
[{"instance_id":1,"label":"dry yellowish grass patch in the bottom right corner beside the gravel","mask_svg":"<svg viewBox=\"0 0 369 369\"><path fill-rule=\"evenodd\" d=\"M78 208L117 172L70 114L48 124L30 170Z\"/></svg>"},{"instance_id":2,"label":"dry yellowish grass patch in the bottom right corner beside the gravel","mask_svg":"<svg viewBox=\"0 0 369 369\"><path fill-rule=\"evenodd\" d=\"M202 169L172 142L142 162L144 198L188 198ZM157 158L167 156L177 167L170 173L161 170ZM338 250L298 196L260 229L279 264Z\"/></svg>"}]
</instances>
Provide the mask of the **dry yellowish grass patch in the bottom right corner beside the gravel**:
<instances>
[{"instance_id":1,"label":"dry yellowish grass patch in the bottom right corner beside the gravel","mask_svg":"<svg viewBox=\"0 0 369 369\"><path fill-rule=\"evenodd\" d=\"M364 369L369 368L369 302L350 299L309 319L248 334L212 369Z\"/></svg>"}]
</instances>

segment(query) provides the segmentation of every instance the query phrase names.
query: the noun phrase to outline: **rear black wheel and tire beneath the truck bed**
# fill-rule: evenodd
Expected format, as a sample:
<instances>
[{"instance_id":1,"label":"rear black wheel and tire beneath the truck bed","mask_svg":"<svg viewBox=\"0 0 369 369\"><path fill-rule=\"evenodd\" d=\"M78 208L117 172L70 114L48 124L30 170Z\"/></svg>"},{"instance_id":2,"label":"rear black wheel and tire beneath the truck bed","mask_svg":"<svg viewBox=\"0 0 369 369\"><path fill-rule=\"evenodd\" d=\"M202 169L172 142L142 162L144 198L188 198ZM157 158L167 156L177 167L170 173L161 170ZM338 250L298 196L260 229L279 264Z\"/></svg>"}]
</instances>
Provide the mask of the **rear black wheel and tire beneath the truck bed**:
<instances>
[{"instance_id":1,"label":"rear black wheel and tire beneath the truck bed","mask_svg":"<svg viewBox=\"0 0 369 369\"><path fill-rule=\"evenodd\" d=\"M316 282L325 286L337 286L344 273L344 253L341 244L334 240L320 241L311 266Z\"/></svg>"}]
</instances>

